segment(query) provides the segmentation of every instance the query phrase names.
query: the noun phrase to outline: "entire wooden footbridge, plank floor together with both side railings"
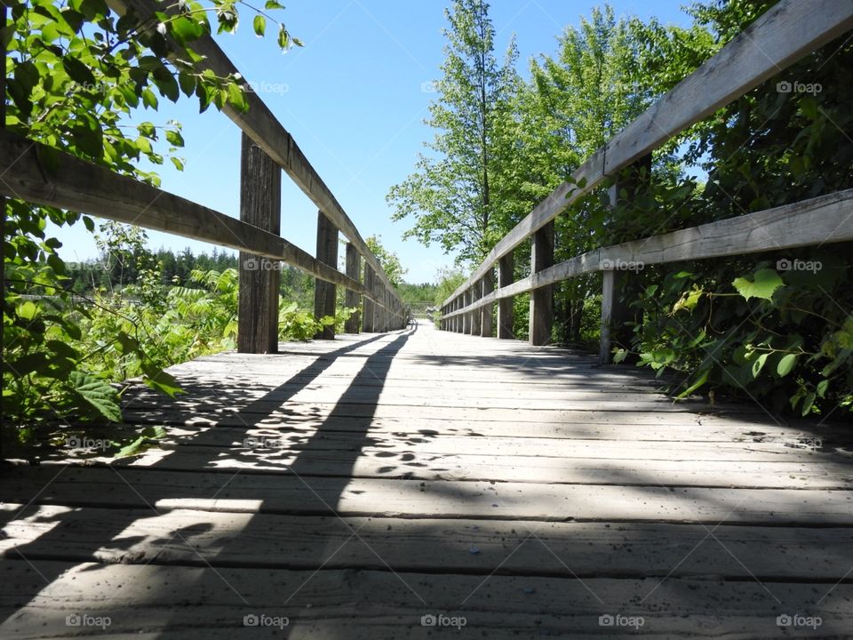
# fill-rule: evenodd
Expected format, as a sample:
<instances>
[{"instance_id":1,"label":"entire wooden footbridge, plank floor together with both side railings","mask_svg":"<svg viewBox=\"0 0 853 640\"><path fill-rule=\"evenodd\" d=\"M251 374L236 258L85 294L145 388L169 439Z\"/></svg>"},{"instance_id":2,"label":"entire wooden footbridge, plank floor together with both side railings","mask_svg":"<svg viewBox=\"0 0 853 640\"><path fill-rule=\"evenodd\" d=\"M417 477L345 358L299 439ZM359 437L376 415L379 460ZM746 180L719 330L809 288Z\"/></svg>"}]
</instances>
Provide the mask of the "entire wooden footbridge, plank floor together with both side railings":
<instances>
[{"instance_id":1,"label":"entire wooden footbridge, plank floor together with both side railings","mask_svg":"<svg viewBox=\"0 0 853 640\"><path fill-rule=\"evenodd\" d=\"M128 0L150 12L148 0ZM853 466L836 428L758 404L674 403L610 364L619 260L704 260L853 239L853 193L602 247L554 263L573 199L853 28L853 5L782 2L587 159L442 305L414 320L323 180L257 94L240 220L0 132L6 196L241 252L238 349L141 383L119 432L163 426L130 460L0 476L0 636L849 637ZM235 71L211 39L198 64ZM206 66L206 67L205 67ZM317 252L280 235L282 171L319 208ZM615 196L614 196L615 198ZM337 269L339 235L346 271ZM530 241L530 275L514 250ZM276 338L282 261L360 313ZM549 344L554 284L602 271L597 354ZM530 293L530 340L512 300Z\"/></svg>"}]
</instances>

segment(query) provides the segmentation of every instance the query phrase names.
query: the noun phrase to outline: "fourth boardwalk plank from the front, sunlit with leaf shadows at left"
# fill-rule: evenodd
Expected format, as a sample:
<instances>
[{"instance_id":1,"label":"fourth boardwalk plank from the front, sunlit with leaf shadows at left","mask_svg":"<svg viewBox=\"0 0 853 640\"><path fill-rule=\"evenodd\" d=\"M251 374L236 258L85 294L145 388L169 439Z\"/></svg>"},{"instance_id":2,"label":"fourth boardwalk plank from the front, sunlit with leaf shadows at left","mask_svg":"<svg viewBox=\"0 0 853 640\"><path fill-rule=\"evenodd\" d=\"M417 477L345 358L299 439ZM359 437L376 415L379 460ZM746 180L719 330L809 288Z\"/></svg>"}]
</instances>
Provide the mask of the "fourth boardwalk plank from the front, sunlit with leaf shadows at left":
<instances>
[{"instance_id":1,"label":"fourth boardwalk plank from the front, sunlit with leaf shadows at left","mask_svg":"<svg viewBox=\"0 0 853 640\"><path fill-rule=\"evenodd\" d=\"M322 432L321 432L322 433ZM212 436L212 437L210 437ZM297 441L297 437L304 438ZM188 442L197 444L162 444L162 448L149 450L135 460L117 460L116 468L145 468L193 472L204 468L218 473L287 474L288 468L298 467L299 476L339 478L387 478L403 480L461 480L495 481L526 484L595 484L642 487L653 482L668 487L720 487L737 486L742 489L853 489L853 469L850 461L827 462L824 457L803 461L796 456L778 455L773 460L767 454L756 452L728 455L712 454L712 443L706 446L686 446L677 441L666 444L683 446L697 451L697 460L660 460L661 453L650 452L646 445L641 452L626 452L631 444L622 444L624 458L618 452L606 449L602 456L585 460L575 456L555 457L536 454L513 455L504 451L492 456L476 453L428 452L426 447L407 447L404 442L386 439L384 449L365 447L355 458L351 451L332 449L333 444L323 440L323 447L315 447L315 440L329 436L311 433L277 433L270 429L247 429L242 434L229 437L219 429L194 436ZM358 446L365 439L377 436L350 438ZM341 438L343 440L343 438ZM251 447L246 447L246 442ZM221 443L219 445L212 444ZM345 441L346 442L346 441ZM478 439L481 451L491 445L485 438ZM718 445L720 443L717 443ZM658 444L658 449L665 445ZM394 453L391 453L393 448ZM446 451L447 444L442 444ZM468 443L468 449L471 443ZM591 454L594 452L591 452ZM685 452L685 458L688 455ZM650 456L645 458L644 456ZM730 459L734 460L730 460ZM710 459L710 460L709 460ZM769 459L769 460L768 460ZM110 462L108 456L80 459L88 463Z\"/></svg>"}]
</instances>

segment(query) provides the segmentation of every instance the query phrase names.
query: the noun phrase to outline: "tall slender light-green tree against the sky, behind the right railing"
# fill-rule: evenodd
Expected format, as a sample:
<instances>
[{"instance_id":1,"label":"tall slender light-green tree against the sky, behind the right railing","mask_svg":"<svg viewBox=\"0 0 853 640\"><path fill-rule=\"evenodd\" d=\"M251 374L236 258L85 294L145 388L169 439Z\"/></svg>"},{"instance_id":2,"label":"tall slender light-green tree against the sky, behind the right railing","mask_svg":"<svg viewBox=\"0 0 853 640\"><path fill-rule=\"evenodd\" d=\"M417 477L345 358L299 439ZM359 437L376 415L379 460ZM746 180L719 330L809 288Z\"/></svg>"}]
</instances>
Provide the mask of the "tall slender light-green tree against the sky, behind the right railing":
<instances>
[{"instance_id":1,"label":"tall slender light-green tree against the sky, behind the right railing","mask_svg":"<svg viewBox=\"0 0 853 640\"><path fill-rule=\"evenodd\" d=\"M506 129L498 124L510 111L520 79L514 41L502 64L495 58L488 12L482 0L455 0L445 11L446 59L426 121L435 137L426 144L429 153L419 155L416 171L387 195L394 220L414 219L404 237L441 244L445 252L458 252L458 260L482 259L507 229L496 197L505 186L499 167L507 161L500 139Z\"/></svg>"}]
</instances>

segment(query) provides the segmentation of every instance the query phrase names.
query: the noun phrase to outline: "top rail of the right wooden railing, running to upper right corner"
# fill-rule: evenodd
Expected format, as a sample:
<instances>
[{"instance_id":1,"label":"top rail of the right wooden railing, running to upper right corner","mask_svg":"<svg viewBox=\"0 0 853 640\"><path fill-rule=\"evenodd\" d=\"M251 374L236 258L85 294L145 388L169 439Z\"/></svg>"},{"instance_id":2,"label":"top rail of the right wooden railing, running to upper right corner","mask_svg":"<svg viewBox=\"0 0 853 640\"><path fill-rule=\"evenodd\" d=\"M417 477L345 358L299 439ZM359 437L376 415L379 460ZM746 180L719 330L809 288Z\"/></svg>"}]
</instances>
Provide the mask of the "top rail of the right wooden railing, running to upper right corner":
<instances>
[{"instance_id":1,"label":"top rail of the right wooden railing, running to upper right corner","mask_svg":"<svg viewBox=\"0 0 853 640\"><path fill-rule=\"evenodd\" d=\"M710 116L850 28L853 28L853 4L834 0L788 0L771 7L590 156L572 173L571 180L554 189L495 245L469 280L448 300L457 297L533 232L554 220L580 193L598 186L605 176L624 169L691 124ZM573 187L578 184L584 187Z\"/></svg>"}]
</instances>

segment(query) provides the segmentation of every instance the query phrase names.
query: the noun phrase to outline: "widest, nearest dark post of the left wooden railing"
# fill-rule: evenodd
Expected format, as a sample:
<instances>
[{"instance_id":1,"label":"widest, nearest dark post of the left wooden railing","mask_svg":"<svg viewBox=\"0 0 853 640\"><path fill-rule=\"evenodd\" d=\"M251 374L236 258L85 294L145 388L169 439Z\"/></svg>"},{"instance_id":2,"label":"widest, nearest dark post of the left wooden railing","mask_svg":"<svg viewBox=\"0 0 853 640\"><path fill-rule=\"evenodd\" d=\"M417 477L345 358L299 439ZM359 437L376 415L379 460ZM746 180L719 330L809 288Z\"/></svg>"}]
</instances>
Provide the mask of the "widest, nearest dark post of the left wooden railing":
<instances>
[{"instance_id":1,"label":"widest, nearest dark post of the left wooden railing","mask_svg":"<svg viewBox=\"0 0 853 640\"><path fill-rule=\"evenodd\" d=\"M281 229L282 168L243 133L240 144L240 220L274 233ZM280 263L240 252L237 351L278 351Z\"/></svg>"}]
</instances>

